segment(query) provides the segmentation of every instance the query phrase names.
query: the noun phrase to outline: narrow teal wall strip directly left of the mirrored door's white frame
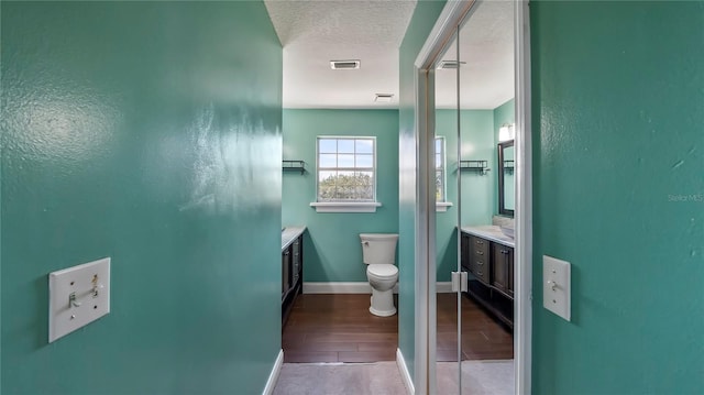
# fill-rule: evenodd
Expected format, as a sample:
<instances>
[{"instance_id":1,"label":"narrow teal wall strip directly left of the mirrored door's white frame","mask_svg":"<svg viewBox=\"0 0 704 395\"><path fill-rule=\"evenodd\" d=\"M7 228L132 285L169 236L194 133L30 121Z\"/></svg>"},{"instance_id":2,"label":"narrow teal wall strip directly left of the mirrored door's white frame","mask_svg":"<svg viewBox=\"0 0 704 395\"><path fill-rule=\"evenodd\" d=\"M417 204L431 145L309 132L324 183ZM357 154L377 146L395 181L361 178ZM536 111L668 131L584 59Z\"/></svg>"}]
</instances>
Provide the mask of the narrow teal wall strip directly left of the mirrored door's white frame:
<instances>
[{"instance_id":1,"label":"narrow teal wall strip directly left of the mirrored door's white frame","mask_svg":"<svg viewBox=\"0 0 704 395\"><path fill-rule=\"evenodd\" d=\"M415 372L415 261L416 261L416 113L414 63L446 1L416 4L399 50L399 183L398 183L398 348L408 371Z\"/></svg>"}]
</instances>

